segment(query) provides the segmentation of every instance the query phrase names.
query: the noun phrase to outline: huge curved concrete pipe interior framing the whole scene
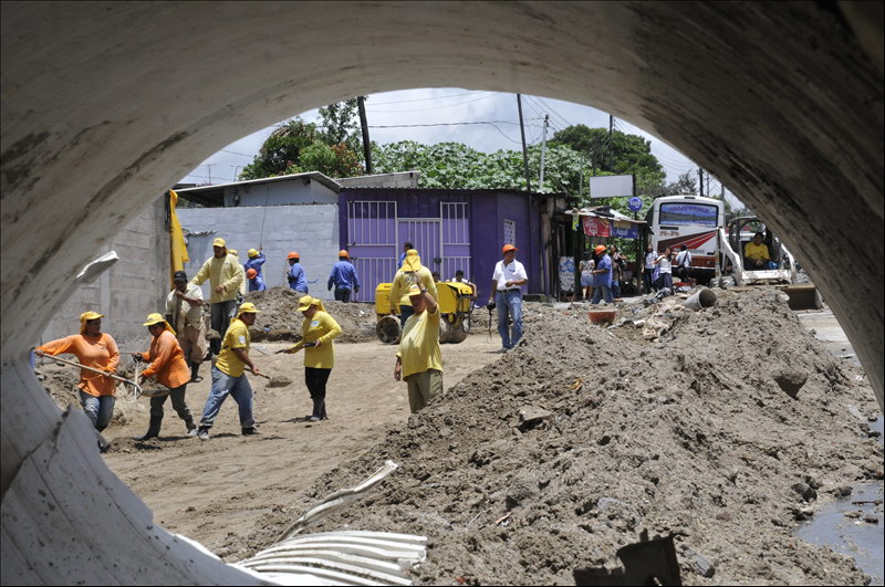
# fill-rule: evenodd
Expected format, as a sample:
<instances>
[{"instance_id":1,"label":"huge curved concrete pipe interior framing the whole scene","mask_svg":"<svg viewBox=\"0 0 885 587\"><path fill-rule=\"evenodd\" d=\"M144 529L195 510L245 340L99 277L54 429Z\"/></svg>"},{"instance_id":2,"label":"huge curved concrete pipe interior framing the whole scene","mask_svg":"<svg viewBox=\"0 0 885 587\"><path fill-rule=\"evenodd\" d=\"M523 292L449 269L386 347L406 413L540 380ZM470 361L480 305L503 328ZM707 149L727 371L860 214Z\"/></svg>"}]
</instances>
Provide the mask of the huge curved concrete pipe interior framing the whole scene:
<instances>
[{"instance_id":1,"label":"huge curved concrete pipe interior framing the whole scene","mask_svg":"<svg viewBox=\"0 0 885 587\"><path fill-rule=\"evenodd\" d=\"M882 22L879 2L3 2L4 583L244 580L150 545L174 538L88 450L85 420L51 403L27 350L156 195L246 133L356 94L522 92L665 138L799 253L882 406ZM56 479L62 459L35 461L48 447L76 470ZM54 492L28 501L28 471ZM113 515L63 483L103 491ZM40 523L50 505L66 525ZM113 565L95 555L100 515L128 521L102 528Z\"/></svg>"}]
</instances>

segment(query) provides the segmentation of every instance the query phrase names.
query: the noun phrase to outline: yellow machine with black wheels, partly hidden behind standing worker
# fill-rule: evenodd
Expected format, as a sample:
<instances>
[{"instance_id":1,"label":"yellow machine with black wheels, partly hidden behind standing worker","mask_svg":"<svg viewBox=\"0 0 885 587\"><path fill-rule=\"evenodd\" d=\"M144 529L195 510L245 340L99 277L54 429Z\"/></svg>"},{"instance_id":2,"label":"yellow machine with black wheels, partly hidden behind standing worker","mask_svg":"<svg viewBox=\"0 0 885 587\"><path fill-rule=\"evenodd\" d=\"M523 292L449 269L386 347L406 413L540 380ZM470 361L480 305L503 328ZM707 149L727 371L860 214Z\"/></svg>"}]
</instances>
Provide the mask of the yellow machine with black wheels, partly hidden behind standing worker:
<instances>
[{"instance_id":1,"label":"yellow machine with black wheels, partly hidden behind standing worker","mask_svg":"<svg viewBox=\"0 0 885 587\"><path fill-rule=\"evenodd\" d=\"M392 283L379 283L375 287L375 314L378 322L375 324L375 334L382 343L393 345L399 342L403 334L399 327L399 317L391 314L391 286ZM465 283L440 281L436 283L439 294L439 342L458 344L467 338L470 332L470 316L473 311L473 292Z\"/></svg>"}]
</instances>

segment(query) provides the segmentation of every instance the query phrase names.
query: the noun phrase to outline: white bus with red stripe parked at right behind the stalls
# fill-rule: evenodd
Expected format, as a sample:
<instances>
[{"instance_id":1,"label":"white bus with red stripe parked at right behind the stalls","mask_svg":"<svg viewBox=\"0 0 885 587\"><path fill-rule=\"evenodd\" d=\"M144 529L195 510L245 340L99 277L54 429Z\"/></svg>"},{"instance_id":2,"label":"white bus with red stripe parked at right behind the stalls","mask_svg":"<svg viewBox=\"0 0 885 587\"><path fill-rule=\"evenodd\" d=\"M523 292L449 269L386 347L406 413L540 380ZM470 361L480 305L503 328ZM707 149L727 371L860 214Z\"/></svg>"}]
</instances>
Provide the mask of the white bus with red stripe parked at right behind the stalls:
<instances>
[{"instance_id":1,"label":"white bus with red stripe parked at right behind the stalls","mask_svg":"<svg viewBox=\"0 0 885 587\"><path fill-rule=\"evenodd\" d=\"M709 283L716 274L719 229L726 226L721 200L700 196L665 196L656 198L646 216L648 241L663 253L669 247L678 253L680 245L691 253L691 276Z\"/></svg>"}]
</instances>

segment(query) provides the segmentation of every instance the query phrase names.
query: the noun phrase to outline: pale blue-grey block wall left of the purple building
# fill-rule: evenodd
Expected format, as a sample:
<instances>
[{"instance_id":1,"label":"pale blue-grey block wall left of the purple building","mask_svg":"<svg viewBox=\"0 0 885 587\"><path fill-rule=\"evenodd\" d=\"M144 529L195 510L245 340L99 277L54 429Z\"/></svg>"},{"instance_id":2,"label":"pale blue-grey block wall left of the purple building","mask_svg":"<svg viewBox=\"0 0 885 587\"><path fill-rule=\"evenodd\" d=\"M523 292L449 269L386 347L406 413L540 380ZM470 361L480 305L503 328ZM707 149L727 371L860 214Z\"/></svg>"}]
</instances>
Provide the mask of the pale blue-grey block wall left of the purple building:
<instances>
[{"instance_id":1,"label":"pale blue-grey block wall left of the purple building","mask_svg":"<svg viewBox=\"0 0 885 587\"><path fill-rule=\"evenodd\" d=\"M190 261L185 265L188 277L196 275L212 255L212 240L217 237L225 239L229 249L239 251L241 262L249 258L249 249L258 249L263 242L268 260L262 276L268 287L289 285L283 280L283 273L289 269L285 255L289 251L298 251L311 295L321 300L333 298L326 291L326 282L332 265L339 260L337 205L186 208L178 210L178 220L186 234L189 232L187 251ZM310 283L314 280L317 281ZM202 284L202 293L208 297L208 281Z\"/></svg>"}]
</instances>

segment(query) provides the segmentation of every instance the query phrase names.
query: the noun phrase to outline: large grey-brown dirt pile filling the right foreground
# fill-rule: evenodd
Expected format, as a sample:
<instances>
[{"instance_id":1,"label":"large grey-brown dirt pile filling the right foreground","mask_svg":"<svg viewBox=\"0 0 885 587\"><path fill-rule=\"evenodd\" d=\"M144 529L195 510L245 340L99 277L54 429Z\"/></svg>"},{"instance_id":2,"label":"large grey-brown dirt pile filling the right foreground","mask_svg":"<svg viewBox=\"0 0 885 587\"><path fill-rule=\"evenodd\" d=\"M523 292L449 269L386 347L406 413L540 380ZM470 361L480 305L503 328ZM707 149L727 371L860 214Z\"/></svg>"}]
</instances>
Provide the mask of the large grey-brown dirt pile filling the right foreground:
<instances>
[{"instance_id":1,"label":"large grey-brown dirt pile filling the right foreground","mask_svg":"<svg viewBox=\"0 0 885 587\"><path fill-rule=\"evenodd\" d=\"M882 478L882 449L847 406L878 408L777 291L673 311L657 340L592 326L583 308L525 314L517 349L231 537L228 559L392 459L402 469L381 489L313 530L427 535L419 584L573 584L643 530L676 535L686 584L864 583L792 528L816 499ZM788 369L805 377L795 394L775 380Z\"/></svg>"}]
</instances>

